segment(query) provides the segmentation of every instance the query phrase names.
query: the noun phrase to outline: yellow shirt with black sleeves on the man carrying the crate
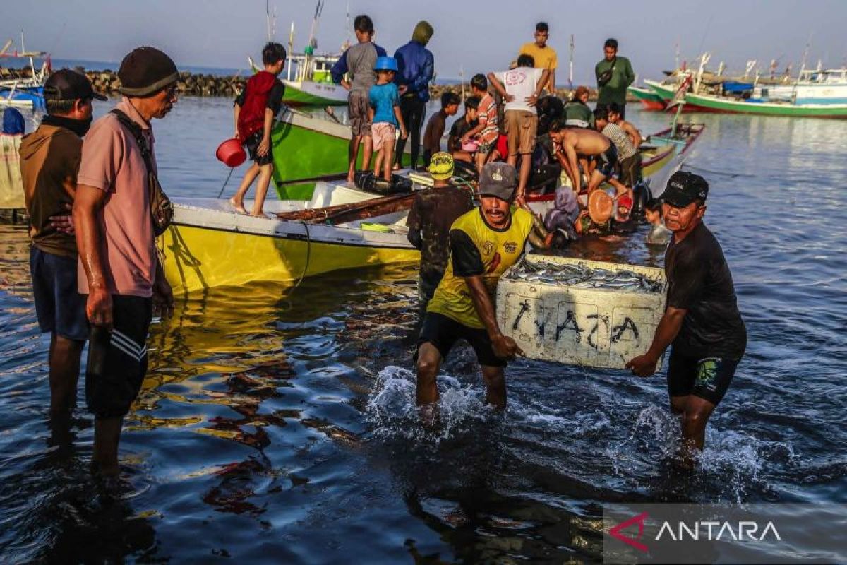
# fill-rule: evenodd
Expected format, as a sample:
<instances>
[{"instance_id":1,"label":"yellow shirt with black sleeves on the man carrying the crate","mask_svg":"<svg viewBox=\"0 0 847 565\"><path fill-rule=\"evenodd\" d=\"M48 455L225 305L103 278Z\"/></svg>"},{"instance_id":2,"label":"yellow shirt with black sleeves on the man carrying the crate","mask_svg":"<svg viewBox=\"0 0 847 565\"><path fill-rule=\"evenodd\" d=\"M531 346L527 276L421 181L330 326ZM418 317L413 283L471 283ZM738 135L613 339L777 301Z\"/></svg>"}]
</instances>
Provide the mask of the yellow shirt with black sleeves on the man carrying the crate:
<instances>
[{"instance_id":1,"label":"yellow shirt with black sleeves on the man carrying the crate","mask_svg":"<svg viewBox=\"0 0 847 565\"><path fill-rule=\"evenodd\" d=\"M450 260L427 312L443 314L471 328L484 328L463 277L482 275L493 301L497 281L518 263L532 228L532 215L514 206L512 224L503 230L486 224L480 208L459 216L450 228Z\"/></svg>"}]
</instances>

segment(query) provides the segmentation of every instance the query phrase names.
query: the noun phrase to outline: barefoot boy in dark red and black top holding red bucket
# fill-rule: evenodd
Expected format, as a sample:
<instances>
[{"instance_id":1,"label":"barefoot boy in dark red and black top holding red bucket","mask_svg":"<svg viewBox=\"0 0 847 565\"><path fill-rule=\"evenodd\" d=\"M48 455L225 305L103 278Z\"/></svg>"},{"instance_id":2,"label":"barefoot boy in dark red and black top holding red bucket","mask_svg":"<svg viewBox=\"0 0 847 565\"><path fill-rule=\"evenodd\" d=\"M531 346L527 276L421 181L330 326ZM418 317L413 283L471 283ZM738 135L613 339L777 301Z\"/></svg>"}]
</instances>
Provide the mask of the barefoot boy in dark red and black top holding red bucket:
<instances>
[{"instance_id":1,"label":"barefoot boy in dark red and black top holding red bucket","mask_svg":"<svg viewBox=\"0 0 847 565\"><path fill-rule=\"evenodd\" d=\"M277 78L285 66L285 47L279 43L268 43L262 49L264 70L252 75L241 95L235 99L235 137L240 140L253 163L244 174L241 186L230 198L232 206L241 213L244 195L250 190L253 180L259 178L256 198L253 200L252 216L264 216L262 207L268 195L271 175L274 174L274 152L271 147L270 130L274 116L280 111L285 85Z\"/></svg>"}]
</instances>

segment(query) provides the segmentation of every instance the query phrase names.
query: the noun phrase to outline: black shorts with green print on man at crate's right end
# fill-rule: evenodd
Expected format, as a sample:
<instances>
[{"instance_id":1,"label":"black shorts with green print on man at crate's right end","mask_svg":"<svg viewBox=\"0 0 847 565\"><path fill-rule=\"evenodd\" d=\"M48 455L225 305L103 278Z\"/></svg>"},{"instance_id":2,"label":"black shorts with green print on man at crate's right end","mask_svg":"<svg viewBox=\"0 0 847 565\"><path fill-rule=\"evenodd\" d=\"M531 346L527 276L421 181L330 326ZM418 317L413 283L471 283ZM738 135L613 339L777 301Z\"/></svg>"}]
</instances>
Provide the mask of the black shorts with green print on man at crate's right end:
<instances>
[{"instance_id":1,"label":"black shorts with green print on man at crate's right end","mask_svg":"<svg viewBox=\"0 0 847 565\"><path fill-rule=\"evenodd\" d=\"M672 349L667 363L667 393L670 396L699 396L717 406L727 393L739 361L722 357L688 357Z\"/></svg>"}]
</instances>

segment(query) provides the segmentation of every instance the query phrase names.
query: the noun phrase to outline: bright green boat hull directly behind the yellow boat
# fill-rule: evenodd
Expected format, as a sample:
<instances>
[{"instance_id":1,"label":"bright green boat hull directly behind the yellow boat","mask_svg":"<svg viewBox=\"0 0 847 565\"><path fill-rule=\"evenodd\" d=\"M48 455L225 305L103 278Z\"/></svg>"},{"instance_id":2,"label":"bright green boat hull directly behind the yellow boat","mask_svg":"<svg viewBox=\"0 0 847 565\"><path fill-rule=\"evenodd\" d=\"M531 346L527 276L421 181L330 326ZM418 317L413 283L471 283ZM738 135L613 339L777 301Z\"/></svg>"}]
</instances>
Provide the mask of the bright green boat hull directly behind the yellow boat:
<instances>
[{"instance_id":1,"label":"bright green boat hull directly behind the yellow boat","mask_svg":"<svg viewBox=\"0 0 847 565\"><path fill-rule=\"evenodd\" d=\"M316 177L344 174L350 147L350 127L299 112L287 112L271 132L274 184L282 200L312 198ZM409 163L407 152L403 163ZM362 167L359 146L357 167ZM302 180L302 182L297 182Z\"/></svg>"}]
</instances>

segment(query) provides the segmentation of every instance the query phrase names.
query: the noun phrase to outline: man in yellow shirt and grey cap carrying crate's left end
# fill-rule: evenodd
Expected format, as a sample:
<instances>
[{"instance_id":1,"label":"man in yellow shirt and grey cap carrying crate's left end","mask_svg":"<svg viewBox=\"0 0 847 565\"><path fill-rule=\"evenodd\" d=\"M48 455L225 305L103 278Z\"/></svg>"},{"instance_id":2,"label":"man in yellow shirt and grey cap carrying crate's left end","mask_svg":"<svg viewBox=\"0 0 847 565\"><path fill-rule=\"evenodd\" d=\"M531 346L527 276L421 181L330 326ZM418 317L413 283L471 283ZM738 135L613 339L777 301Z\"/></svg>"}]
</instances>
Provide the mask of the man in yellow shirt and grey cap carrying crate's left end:
<instances>
[{"instance_id":1,"label":"man in yellow shirt and grey cap carrying crate's left end","mask_svg":"<svg viewBox=\"0 0 847 565\"><path fill-rule=\"evenodd\" d=\"M534 247L550 246L533 232L534 219L523 208L512 206L518 175L508 163L488 163L479 174L482 205L462 214L450 229L450 260L444 277L427 305L418 338L418 406L438 401L435 379L441 363L456 341L473 347L482 366L486 402L506 406L503 368L523 354L497 325L494 299L497 282L518 262L529 240ZM424 414L426 415L426 414Z\"/></svg>"}]
</instances>

